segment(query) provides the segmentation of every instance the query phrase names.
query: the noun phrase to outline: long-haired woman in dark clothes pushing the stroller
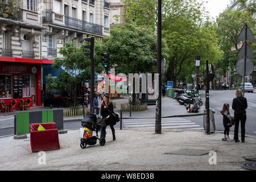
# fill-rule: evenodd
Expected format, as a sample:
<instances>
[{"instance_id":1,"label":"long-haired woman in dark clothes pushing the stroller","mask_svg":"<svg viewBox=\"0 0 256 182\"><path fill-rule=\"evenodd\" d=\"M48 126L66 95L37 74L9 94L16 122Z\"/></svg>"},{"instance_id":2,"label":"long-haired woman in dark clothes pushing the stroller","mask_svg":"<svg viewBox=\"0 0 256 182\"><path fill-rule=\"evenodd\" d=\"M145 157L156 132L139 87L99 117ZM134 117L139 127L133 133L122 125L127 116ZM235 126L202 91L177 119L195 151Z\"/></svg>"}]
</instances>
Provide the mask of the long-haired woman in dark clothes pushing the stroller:
<instances>
[{"instance_id":1,"label":"long-haired woman in dark clothes pushing the stroller","mask_svg":"<svg viewBox=\"0 0 256 182\"><path fill-rule=\"evenodd\" d=\"M115 129L114 125L116 122L114 121L113 115L114 113L114 106L112 102L110 102L109 96L104 94L103 95L103 102L101 104L101 119L106 118L106 126L110 126L112 130L113 140L115 140ZM106 137L106 126L102 127L102 138Z\"/></svg>"}]
</instances>

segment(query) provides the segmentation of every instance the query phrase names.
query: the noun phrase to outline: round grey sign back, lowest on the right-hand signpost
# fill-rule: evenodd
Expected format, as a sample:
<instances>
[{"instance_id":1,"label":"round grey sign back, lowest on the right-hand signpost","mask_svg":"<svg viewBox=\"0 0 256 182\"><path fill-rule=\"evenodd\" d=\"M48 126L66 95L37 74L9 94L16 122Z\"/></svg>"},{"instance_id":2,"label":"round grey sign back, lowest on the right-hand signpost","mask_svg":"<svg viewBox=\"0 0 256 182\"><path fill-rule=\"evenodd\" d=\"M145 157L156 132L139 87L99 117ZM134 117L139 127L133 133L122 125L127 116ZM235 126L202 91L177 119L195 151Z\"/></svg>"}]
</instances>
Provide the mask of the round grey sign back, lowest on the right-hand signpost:
<instances>
[{"instance_id":1,"label":"round grey sign back, lowest on the right-hand signpost","mask_svg":"<svg viewBox=\"0 0 256 182\"><path fill-rule=\"evenodd\" d=\"M253 72L253 67L253 61L251 61L250 59L246 59L246 69L245 59L240 59L239 61L237 61L236 64L237 73L241 76L251 75L251 73Z\"/></svg>"}]
</instances>

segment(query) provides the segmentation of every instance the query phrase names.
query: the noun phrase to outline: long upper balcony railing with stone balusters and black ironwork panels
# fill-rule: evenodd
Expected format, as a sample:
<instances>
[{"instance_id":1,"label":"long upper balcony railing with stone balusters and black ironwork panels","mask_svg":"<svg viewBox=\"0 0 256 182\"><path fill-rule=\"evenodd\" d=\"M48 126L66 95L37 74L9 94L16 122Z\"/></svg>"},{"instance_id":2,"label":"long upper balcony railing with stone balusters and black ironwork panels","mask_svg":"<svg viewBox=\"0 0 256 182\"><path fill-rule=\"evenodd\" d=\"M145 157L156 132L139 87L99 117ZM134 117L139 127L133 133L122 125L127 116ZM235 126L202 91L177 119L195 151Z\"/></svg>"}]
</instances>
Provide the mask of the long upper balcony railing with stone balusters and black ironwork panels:
<instances>
[{"instance_id":1,"label":"long upper balcony railing with stone balusters and black ironwork panels","mask_svg":"<svg viewBox=\"0 0 256 182\"><path fill-rule=\"evenodd\" d=\"M62 22L63 21L63 22ZM85 22L81 19L72 18L53 13L52 11L43 12L43 23L61 24L62 26L76 30L102 35L102 26L94 23Z\"/></svg>"}]
</instances>

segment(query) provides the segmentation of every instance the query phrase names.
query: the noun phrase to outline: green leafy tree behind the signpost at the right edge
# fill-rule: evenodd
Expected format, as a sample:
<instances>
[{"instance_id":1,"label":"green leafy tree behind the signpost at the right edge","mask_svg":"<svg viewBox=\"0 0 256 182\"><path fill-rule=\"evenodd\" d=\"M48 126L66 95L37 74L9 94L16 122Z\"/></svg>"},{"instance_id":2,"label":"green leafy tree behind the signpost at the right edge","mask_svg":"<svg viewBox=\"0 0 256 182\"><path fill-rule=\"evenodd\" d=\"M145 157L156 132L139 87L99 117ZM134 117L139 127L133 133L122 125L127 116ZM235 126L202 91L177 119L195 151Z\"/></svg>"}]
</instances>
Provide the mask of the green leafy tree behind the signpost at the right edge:
<instances>
[{"instance_id":1,"label":"green leafy tree behind the signpost at the right edge","mask_svg":"<svg viewBox=\"0 0 256 182\"><path fill-rule=\"evenodd\" d=\"M244 6L243 1L240 1L241 5ZM247 4L248 6L250 5ZM255 6L255 5L254 5ZM246 7L246 6L245 6ZM250 6L251 7L251 6ZM255 23L256 20L251 13L251 9L228 9L221 13L216 19L217 23L217 35L220 40L220 47L224 51L223 59L219 60L217 63L218 68L221 69L223 74L226 73L226 70L230 66L230 71L232 76L236 76L237 73L234 72L236 68L236 63L238 61L237 53L239 51L238 45L241 46L240 41L237 41L238 35L240 34L245 23L249 26L253 35L256 34ZM256 42L249 43L251 49L256 54ZM234 51L232 51L232 48ZM239 47L240 48L240 47ZM254 57L254 65L256 64Z\"/></svg>"}]
</instances>

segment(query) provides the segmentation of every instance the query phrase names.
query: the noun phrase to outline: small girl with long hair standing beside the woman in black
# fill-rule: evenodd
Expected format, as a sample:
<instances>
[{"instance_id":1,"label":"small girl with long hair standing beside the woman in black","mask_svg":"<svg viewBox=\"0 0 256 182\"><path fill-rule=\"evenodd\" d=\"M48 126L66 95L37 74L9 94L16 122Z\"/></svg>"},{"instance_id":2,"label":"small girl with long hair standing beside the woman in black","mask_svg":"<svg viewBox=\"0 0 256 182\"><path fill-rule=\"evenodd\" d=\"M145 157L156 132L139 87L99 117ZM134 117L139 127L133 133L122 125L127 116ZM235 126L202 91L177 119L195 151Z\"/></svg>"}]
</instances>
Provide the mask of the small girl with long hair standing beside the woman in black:
<instances>
[{"instance_id":1,"label":"small girl with long hair standing beside the woman in black","mask_svg":"<svg viewBox=\"0 0 256 182\"><path fill-rule=\"evenodd\" d=\"M223 115L223 126L224 126L224 141L232 140L229 138L229 128L232 127L231 119L232 116L229 113L229 104L225 103L222 107L221 114Z\"/></svg>"}]
</instances>

